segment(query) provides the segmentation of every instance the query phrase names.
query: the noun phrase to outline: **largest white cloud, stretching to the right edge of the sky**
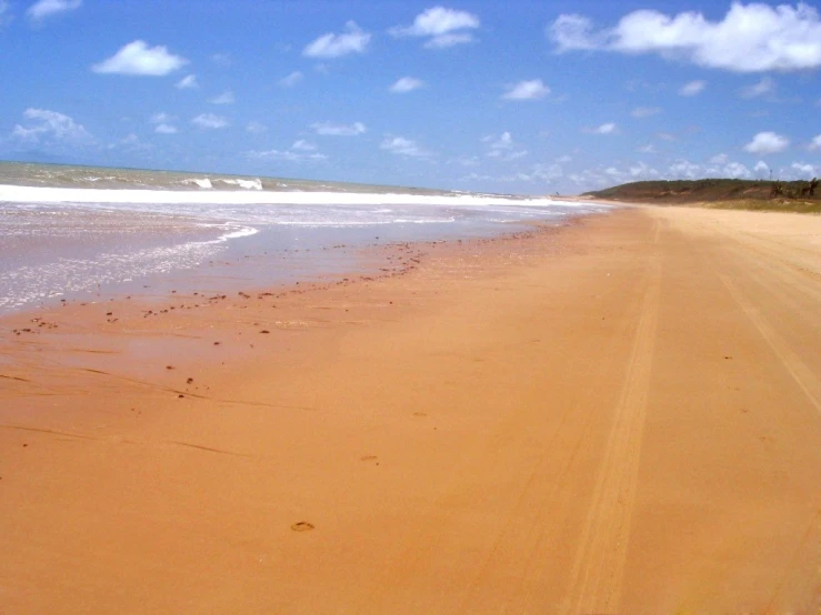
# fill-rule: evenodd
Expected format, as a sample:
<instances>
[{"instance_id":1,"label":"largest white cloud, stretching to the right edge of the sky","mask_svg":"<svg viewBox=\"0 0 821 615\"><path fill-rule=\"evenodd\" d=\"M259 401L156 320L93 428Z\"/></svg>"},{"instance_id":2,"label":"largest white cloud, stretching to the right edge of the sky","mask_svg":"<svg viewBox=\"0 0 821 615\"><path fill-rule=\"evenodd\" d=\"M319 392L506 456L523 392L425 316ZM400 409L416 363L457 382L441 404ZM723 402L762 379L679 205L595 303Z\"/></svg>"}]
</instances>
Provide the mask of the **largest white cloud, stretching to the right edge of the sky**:
<instances>
[{"instance_id":1,"label":"largest white cloud, stretching to the right edge of the sky","mask_svg":"<svg viewBox=\"0 0 821 615\"><path fill-rule=\"evenodd\" d=\"M597 30L580 14L562 14L548 28L559 52L604 50L658 53L667 59L735 72L793 71L821 67L821 20L815 8L734 2L721 21L695 11L668 16L628 13Z\"/></svg>"}]
</instances>

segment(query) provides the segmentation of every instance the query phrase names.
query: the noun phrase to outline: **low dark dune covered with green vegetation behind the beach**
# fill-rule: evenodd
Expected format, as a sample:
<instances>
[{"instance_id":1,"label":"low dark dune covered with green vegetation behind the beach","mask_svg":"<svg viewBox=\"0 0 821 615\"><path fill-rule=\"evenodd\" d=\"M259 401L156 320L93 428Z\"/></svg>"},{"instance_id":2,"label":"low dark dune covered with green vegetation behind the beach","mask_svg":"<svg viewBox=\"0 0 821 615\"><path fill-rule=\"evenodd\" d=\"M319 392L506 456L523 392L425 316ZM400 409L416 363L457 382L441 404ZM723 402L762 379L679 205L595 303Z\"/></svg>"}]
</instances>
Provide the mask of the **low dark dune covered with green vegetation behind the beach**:
<instances>
[{"instance_id":1,"label":"low dark dune covered with green vegetation behind the beach","mask_svg":"<svg viewBox=\"0 0 821 615\"><path fill-rule=\"evenodd\" d=\"M821 213L818 180L674 180L625 183L585 192L585 196L661 205Z\"/></svg>"}]
</instances>

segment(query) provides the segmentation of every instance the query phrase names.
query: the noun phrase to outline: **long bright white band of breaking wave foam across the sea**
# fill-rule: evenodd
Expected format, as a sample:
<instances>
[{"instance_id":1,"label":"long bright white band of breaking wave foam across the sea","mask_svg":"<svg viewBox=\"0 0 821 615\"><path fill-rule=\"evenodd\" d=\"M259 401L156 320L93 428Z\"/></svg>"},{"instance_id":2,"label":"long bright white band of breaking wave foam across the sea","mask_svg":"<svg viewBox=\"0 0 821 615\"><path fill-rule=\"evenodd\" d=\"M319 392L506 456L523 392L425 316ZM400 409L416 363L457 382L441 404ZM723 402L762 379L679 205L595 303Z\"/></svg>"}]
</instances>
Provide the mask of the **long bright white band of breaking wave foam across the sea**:
<instances>
[{"instance_id":1,"label":"long bright white band of breaking wave foam across the sea","mask_svg":"<svg viewBox=\"0 0 821 615\"><path fill-rule=\"evenodd\" d=\"M201 188L211 182L191 180ZM240 181L240 180L237 180ZM202 183L200 183L202 182ZM208 182L206 185L204 182ZM98 190L0 185L0 202L11 203L132 203L132 204L269 204L269 205L524 205L579 208L590 203L554 201L544 196L507 198L490 194L401 194L351 192L272 192L263 190L180 192L172 190Z\"/></svg>"}]
</instances>

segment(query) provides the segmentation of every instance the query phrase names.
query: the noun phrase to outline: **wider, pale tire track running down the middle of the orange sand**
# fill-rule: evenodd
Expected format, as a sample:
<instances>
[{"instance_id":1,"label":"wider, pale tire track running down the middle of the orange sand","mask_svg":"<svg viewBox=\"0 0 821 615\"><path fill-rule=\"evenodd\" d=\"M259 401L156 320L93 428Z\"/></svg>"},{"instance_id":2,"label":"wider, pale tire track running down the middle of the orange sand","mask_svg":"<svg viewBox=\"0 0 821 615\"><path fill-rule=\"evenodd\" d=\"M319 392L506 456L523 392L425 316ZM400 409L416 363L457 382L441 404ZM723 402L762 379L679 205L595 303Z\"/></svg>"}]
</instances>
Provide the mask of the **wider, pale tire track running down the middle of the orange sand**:
<instances>
[{"instance_id":1,"label":"wider, pale tire track running down the middle of the orange sand","mask_svg":"<svg viewBox=\"0 0 821 615\"><path fill-rule=\"evenodd\" d=\"M658 240L657 232L653 243ZM619 607L639 482L660 294L661 260L655 253L650 264L650 284L641 305L624 386L579 538L562 609L565 613L613 613Z\"/></svg>"}]
</instances>

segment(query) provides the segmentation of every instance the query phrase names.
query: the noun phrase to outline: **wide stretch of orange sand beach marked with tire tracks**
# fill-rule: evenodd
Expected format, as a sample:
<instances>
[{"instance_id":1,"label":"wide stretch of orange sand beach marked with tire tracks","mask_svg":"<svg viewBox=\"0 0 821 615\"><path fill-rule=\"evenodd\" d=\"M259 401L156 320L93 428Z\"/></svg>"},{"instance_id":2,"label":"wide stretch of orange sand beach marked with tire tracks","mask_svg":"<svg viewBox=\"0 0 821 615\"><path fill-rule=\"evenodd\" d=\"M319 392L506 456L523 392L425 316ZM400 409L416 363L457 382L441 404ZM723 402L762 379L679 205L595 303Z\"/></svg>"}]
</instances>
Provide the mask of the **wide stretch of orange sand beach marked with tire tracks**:
<instances>
[{"instance_id":1,"label":"wide stretch of orange sand beach marked with tire tracks","mask_svg":"<svg viewBox=\"0 0 821 615\"><path fill-rule=\"evenodd\" d=\"M628 209L6 319L0 612L817 613L820 238Z\"/></svg>"}]
</instances>

